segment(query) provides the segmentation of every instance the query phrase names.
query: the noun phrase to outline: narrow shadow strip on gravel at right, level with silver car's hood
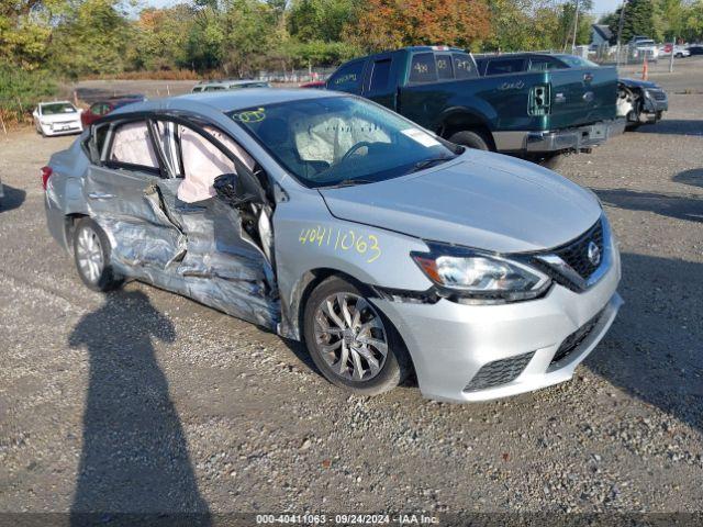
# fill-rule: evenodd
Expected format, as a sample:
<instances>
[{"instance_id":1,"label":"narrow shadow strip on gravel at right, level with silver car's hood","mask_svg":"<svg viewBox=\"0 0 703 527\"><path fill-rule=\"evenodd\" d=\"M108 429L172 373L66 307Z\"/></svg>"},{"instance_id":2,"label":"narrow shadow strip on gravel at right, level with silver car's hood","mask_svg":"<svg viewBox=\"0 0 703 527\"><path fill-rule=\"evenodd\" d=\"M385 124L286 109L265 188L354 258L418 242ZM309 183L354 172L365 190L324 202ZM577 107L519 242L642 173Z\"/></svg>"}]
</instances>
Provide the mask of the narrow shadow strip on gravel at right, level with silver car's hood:
<instances>
[{"instance_id":1,"label":"narrow shadow strip on gravel at right, level with silver car's hood","mask_svg":"<svg viewBox=\"0 0 703 527\"><path fill-rule=\"evenodd\" d=\"M603 203L629 211L654 212L661 216L703 223L703 199L694 195L660 194L627 189L595 189Z\"/></svg>"}]
</instances>

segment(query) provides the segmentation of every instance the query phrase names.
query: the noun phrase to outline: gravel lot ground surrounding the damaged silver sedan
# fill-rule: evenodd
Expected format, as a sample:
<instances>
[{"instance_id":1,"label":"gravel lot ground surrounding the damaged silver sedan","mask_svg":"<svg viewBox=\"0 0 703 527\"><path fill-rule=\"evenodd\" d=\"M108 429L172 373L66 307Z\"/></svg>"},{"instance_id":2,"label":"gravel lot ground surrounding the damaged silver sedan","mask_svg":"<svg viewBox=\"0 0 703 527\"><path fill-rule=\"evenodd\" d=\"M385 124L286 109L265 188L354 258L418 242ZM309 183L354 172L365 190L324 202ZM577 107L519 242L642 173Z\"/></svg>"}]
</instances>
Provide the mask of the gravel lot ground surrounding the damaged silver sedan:
<instances>
[{"instance_id":1,"label":"gravel lot ground surrounding the damaged silver sedan","mask_svg":"<svg viewBox=\"0 0 703 527\"><path fill-rule=\"evenodd\" d=\"M572 382L484 404L349 396L255 326L145 284L90 292L38 177L72 138L0 137L0 512L700 511L703 94L677 93L703 63L687 71L663 122L560 170L621 243L613 328Z\"/></svg>"}]
</instances>

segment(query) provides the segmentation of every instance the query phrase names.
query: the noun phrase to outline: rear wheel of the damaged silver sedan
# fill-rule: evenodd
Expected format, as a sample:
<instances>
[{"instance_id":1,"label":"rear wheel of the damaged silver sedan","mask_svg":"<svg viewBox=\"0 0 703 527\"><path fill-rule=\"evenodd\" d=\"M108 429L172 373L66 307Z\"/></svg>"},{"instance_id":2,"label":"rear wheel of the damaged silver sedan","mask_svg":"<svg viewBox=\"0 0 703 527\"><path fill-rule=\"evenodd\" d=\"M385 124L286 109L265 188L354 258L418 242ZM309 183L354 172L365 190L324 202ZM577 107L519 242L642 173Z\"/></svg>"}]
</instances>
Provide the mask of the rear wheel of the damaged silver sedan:
<instances>
[{"instance_id":1,"label":"rear wheel of the damaged silver sedan","mask_svg":"<svg viewBox=\"0 0 703 527\"><path fill-rule=\"evenodd\" d=\"M110 265L110 240L100 226L83 217L74 231L74 259L82 282L93 291L110 291L122 283Z\"/></svg>"}]
</instances>

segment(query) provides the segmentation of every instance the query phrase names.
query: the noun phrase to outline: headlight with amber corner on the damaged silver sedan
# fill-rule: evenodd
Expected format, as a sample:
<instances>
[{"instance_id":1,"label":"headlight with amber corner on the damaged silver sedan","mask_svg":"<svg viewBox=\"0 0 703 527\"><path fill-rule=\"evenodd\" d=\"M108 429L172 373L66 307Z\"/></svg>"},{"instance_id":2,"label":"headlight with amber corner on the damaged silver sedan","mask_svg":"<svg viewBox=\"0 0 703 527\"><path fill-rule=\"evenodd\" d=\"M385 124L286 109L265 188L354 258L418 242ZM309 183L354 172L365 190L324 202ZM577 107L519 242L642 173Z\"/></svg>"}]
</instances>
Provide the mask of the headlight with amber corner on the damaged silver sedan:
<instances>
[{"instance_id":1,"label":"headlight with amber corner on the damaged silver sedan","mask_svg":"<svg viewBox=\"0 0 703 527\"><path fill-rule=\"evenodd\" d=\"M432 253L412 253L424 273L459 296L498 302L535 299L551 280L537 269L498 255L432 246Z\"/></svg>"}]
</instances>

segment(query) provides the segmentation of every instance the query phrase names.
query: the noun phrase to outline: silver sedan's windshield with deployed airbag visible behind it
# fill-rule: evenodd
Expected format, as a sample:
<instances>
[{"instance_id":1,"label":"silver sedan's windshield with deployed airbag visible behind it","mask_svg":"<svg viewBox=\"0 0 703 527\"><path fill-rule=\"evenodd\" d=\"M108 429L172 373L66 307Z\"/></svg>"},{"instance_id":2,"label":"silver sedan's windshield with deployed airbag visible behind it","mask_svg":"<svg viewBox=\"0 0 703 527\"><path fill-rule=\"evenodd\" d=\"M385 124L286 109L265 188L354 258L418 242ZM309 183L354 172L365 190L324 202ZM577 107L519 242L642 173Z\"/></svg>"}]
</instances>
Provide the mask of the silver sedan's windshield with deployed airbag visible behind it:
<instances>
[{"instance_id":1,"label":"silver sedan's windshield with deployed airbag visible behind it","mask_svg":"<svg viewBox=\"0 0 703 527\"><path fill-rule=\"evenodd\" d=\"M230 116L308 187L364 184L445 162L460 147L353 97L237 110Z\"/></svg>"}]
</instances>

